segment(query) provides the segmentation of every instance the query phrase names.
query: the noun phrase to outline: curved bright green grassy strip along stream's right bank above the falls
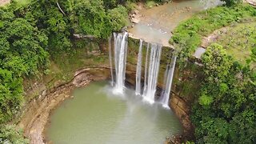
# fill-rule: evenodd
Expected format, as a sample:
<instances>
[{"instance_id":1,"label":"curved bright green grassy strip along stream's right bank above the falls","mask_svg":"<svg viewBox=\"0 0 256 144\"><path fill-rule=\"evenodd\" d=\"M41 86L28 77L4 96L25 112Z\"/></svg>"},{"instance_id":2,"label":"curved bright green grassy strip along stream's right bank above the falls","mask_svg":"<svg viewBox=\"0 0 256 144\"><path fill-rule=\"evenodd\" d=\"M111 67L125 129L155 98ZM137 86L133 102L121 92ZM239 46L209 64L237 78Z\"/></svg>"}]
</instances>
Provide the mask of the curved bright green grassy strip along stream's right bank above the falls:
<instances>
[{"instance_id":1,"label":"curved bright green grassy strip along stream's right bank above the falls","mask_svg":"<svg viewBox=\"0 0 256 144\"><path fill-rule=\"evenodd\" d=\"M203 36L224 26L230 26L231 23L242 22L243 19L254 16L256 16L256 10L249 5L221 6L206 10L182 22L174 30L170 43L181 50L179 58L186 59L200 46Z\"/></svg>"}]
</instances>

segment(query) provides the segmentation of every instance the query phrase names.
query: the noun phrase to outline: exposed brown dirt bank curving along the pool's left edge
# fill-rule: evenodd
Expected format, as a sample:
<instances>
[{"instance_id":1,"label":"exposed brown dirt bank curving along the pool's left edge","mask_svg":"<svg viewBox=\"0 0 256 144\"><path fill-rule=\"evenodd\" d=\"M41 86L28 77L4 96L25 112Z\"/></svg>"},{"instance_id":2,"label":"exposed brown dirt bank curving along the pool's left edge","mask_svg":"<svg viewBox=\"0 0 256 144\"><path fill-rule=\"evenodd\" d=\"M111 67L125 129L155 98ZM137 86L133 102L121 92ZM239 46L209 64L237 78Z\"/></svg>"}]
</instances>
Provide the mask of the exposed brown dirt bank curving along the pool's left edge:
<instances>
[{"instance_id":1,"label":"exposed brown dirt bank curving along the pool's left edge","mask_svg":"<svg viewBox=\"0 0 256 144\"><path fill-rule=\"evenodd\" d=\"M32 144L47 143L44 138L44 129L48 122L51 110L70 98L70 91L75 87L87 86L90 82L104 80L110 77L107 67L99 66L78 70L71 82L56 86L51 90L41 90L38 98L34 98L26 105L18 126L24 129L24 134Z\"/></svg>"}]
</instances>

